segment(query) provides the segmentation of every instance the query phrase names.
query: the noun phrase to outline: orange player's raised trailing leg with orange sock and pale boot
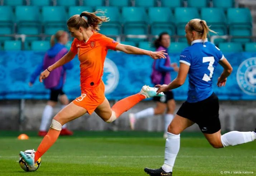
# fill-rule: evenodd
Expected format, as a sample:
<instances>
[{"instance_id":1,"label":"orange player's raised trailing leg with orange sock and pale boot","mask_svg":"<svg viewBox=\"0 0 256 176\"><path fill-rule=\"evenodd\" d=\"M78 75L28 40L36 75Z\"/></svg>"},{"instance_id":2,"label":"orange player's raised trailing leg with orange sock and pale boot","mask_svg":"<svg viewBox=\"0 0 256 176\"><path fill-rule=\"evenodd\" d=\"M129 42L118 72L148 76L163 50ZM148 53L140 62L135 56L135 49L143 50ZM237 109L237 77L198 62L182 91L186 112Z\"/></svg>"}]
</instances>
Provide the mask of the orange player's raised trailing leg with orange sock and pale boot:
<instances>
[{"instance_id":1,"label":"orange player's raised trailing leg with orange sock and pale boot","mask_svg":"<svg viewBox=\"0 0 256 176\"><path fill-rule=\"evenodd\" d=\"M156 95L157 88L155 87L149 87L144 85L140 92L126 97L124 99L121 99L118 101L112 108L110 108L110 104L105 99L105 101L100 104L96 109L95 112L100 116L105 122L111 123L115 121L122 113L128 111L133 106L135 106L137 103L142 101L143 99L154 97L154 96L164 96L164 93L161 92L158 95Z\"/></svg>"}]
</instances>

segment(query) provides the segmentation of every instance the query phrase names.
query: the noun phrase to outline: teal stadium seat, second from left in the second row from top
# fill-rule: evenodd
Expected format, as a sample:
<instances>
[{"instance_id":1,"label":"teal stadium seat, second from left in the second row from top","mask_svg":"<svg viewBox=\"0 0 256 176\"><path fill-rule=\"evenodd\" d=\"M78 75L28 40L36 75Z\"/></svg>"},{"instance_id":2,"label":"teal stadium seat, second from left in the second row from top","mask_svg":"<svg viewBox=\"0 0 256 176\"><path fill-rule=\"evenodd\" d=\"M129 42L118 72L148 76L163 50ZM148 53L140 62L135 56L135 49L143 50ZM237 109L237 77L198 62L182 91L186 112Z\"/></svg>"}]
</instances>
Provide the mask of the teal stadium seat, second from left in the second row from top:
<instances>
[{"instance_id":1,"label":"teal stadium seat, second from left in the second row from top","mask_svg":"<svg viewBox=\"0 0 256 176\"><path fill-rule=\"evenodd\" d=\"M15 9L17 33L38 35L41 33L38 6L17 6ZM26 37L26 40L38 40L38 37Z\"/></svg>"}]
</instances>

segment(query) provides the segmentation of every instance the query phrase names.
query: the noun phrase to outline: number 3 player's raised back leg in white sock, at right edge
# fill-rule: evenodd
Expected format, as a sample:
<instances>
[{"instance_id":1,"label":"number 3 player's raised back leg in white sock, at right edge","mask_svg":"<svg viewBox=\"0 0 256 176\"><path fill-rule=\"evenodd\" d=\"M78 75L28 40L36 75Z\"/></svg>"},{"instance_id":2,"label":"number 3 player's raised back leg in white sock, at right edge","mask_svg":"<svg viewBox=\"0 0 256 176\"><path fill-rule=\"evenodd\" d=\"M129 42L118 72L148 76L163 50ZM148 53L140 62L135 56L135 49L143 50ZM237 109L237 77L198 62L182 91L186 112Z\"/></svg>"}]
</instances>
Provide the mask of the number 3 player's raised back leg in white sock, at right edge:
<instances>
[{"instance_id":1,"label":"number 3 player's raised back leg in white sock, at right edge","mask_svg":"<svg viewBox=\"0 0 256 176\"><path fill-rule=\"evenodd\" d=\"M256 131L256 129L255 129ZM221 135L221 130L213 134L204 133L204 136L208 142L214 148L222 148L228 146L236 146L243 143L251 142L256 140L256 132L240 132L240 131L231 131Z\"/></svg>"}]
</instances>

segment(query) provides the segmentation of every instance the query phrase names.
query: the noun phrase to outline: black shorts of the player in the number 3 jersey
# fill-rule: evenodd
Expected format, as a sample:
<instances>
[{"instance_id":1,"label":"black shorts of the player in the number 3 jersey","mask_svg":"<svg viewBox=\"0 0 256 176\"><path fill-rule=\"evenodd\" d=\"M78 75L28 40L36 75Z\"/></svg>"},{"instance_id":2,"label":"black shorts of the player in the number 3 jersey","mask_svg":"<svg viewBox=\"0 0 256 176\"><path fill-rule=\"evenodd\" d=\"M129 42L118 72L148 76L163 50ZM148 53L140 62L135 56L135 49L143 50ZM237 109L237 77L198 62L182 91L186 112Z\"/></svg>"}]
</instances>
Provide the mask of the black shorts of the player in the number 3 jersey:
<instances>
[{"instance_id":1,"label":"black shorts of the player in the number 3 jersey","mask_svg":"<svg viewBox=\"0 0 256 176\"><path fill-rule=\"evenodd\" d=\"M196 103L184 102L177 115L197 123L203 133L213 134L221 129L219 99L214 93Z\"/></svg>"}]
</instances>

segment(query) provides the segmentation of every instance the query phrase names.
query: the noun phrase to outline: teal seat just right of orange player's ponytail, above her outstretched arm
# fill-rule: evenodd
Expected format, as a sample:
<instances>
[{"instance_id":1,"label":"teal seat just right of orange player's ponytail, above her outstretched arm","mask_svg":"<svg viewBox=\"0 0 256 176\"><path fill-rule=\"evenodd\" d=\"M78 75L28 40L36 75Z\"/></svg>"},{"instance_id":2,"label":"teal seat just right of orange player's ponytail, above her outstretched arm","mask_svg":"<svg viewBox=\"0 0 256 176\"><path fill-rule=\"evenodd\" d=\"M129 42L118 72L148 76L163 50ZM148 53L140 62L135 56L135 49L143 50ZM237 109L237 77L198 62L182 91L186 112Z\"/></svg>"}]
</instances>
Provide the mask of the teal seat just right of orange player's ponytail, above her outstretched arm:
<instances>
[{"instance_id":1,"label":"teal seat just right of orange player's ponytail, above her outstretched arm","mask_svg":"<svg viewBox=\"0 0 256 176\"><path fill-rule=\"evenodd\" d=\"M124 7L122 8L122 21L124 23L125 35L146 35L148 34L148 16L143 7ZM144 39L127 39L140 41Z\"/></svg>"}]
</instances>

